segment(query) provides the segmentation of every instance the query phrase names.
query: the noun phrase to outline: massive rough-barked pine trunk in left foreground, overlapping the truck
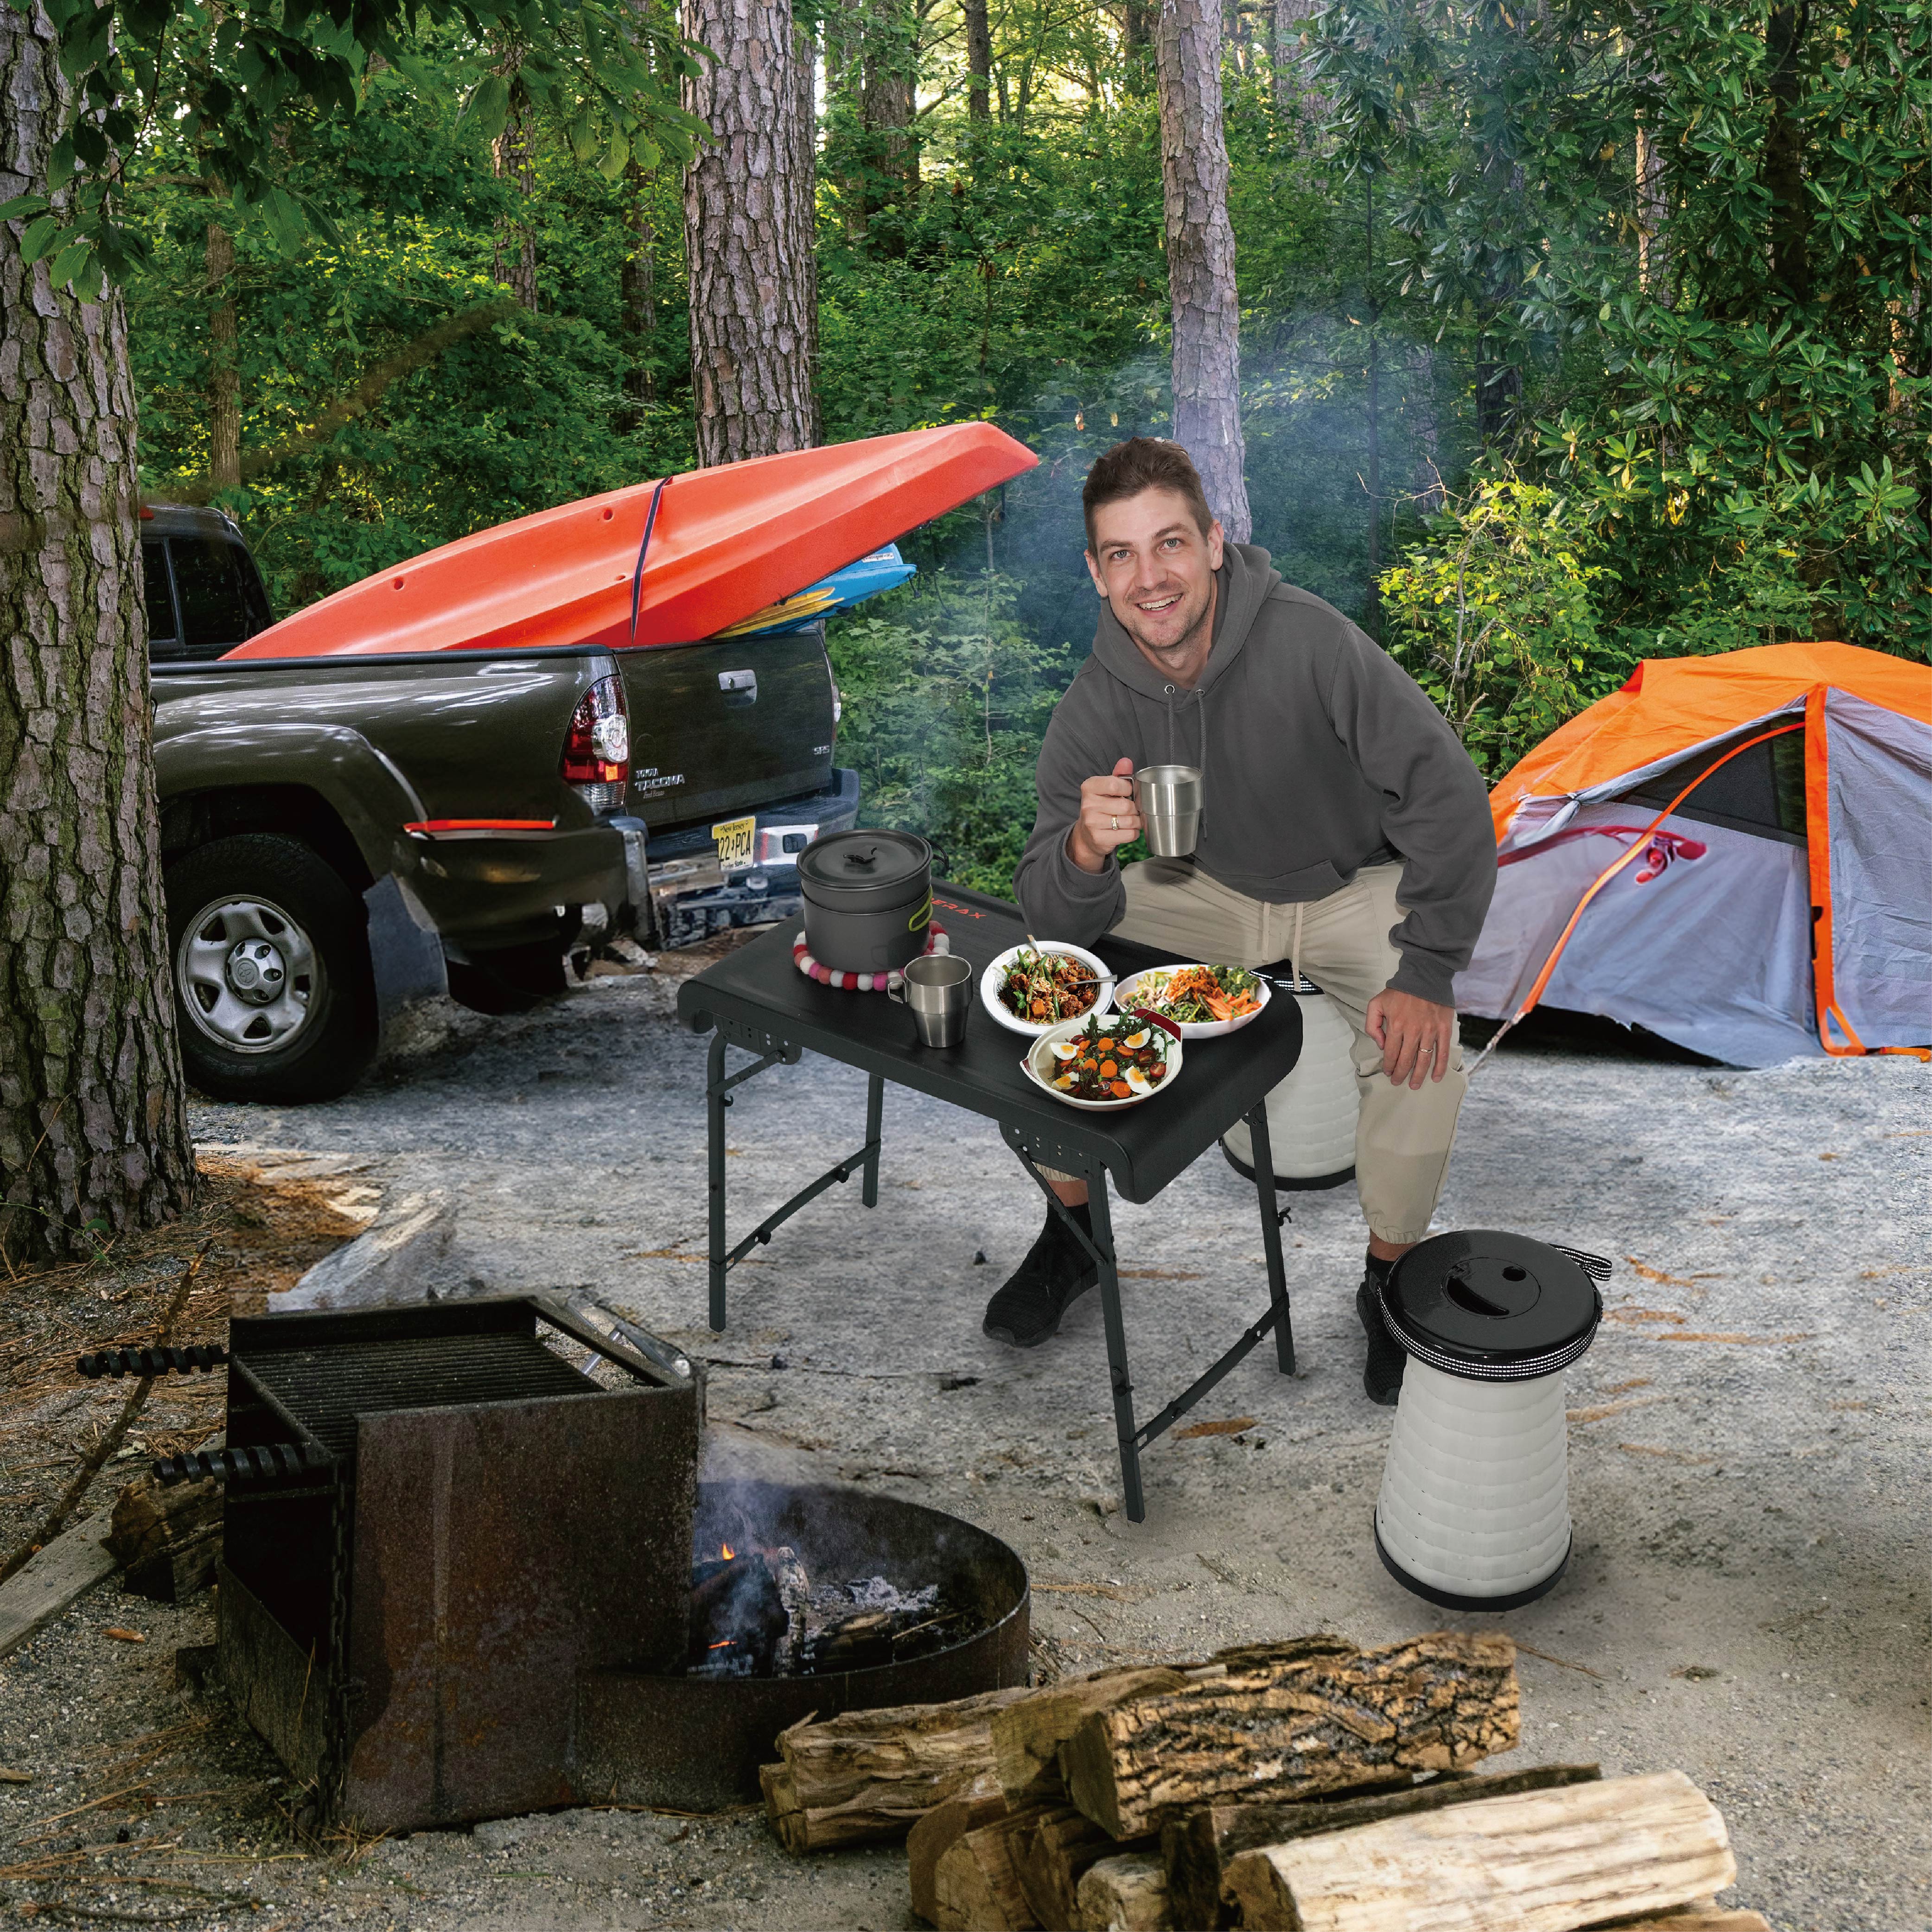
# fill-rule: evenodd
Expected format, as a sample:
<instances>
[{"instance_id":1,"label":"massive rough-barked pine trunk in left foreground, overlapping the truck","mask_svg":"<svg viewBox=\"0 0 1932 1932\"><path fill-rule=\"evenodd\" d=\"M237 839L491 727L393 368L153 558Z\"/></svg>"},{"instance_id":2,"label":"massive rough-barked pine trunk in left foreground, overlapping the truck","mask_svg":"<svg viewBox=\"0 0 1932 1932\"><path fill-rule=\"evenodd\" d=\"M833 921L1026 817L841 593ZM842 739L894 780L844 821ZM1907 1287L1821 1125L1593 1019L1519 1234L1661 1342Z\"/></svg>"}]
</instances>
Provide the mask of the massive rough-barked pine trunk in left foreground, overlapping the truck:
<instances>
[{"instance_id":1,"label":"massive rough-barked pine trunk in left foreground, overlapping the truck","mask_svg":"<svg viewBox=\"0 0 1932 1932\"><path fill-rule=\"evenodd\" d=\"M66 104L0 6L0 201ZM135 402L118 290L54 292L0 224L0 1254L91 1252L193 1186L147 734ZM93 1227L93 1233L89 1231Z\"/></svg>"}]
</instances>

